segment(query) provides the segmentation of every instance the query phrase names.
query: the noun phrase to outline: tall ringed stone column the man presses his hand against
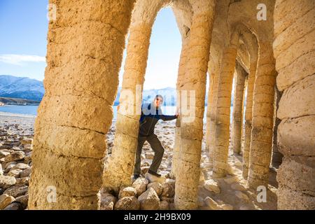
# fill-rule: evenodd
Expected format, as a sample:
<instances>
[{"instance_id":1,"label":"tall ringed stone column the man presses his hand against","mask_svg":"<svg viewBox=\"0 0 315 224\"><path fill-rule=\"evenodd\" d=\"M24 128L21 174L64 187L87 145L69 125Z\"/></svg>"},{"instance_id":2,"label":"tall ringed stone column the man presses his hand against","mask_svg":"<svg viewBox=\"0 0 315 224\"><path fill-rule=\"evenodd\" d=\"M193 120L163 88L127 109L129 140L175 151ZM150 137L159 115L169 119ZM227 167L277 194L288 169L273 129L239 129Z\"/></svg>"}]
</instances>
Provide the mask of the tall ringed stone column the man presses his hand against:
<instances>
[{"instance_id":1,"label":"tall ringed stone column the man presses his hand against","mask_svg":"<svg viewBox=\"0 0 315 224\"><path fill-rule=\"evenodd\" d=\"M179 166L176 173L174 205L176 209L197 209L198 184L200 179L200 158L204 98L206 94L207 70L214 22L214 1L195 0L193 23L188 40L188 60L186 62L185 83L182 90L188 90L188 102L195 100L190 108L193 117L183 114L186 105L181 104L181 148ZM190 96L190 90L195 96ZM184 100L186 100L184 99ZM182 101L183 102L183 99ZM189 118L192 118L191 120Z\"/></svg>"}]
</instances>

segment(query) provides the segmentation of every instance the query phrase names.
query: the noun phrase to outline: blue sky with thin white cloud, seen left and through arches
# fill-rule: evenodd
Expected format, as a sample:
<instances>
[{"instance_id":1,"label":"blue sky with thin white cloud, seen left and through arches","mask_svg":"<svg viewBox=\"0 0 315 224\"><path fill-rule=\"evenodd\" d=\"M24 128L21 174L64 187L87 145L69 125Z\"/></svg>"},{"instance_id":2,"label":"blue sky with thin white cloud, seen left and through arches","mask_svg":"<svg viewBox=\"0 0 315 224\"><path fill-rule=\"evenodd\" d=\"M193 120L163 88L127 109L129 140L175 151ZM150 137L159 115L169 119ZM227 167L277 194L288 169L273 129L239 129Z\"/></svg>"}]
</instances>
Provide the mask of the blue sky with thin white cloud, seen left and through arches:
<instances>
[{"instance_id":1,"label":"blue sky with thin white cloud, seen left and through arches","mask_svg":"<svg viewBox=\"0 0 315 224\"><path fill-rule=\"evenodd\" d=\"M0 75L43 80L47 6L48 0L0 0ZM181 35L174 14L164 8L153 27L144 89L175 87L180 54ZM122 75L123 66L120 82Z\"/></svg>"}]
</instances>

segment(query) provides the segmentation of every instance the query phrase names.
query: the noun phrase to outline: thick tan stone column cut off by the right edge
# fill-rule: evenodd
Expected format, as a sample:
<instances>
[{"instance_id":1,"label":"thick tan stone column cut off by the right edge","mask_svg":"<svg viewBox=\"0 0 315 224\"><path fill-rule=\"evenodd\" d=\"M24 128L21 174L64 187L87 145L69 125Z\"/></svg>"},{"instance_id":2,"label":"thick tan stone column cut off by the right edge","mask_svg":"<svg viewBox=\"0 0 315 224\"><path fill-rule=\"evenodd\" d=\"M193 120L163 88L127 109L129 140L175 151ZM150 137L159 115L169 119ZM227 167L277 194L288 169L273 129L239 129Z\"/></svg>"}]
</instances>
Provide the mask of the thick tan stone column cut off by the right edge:
<instances>
[{"instance_id":1,"label":"thick tan stone column cut off by the right edge","mask_svg":"<svg viewBox=\"0 0 315 224\"><path fill-rule=\"evenodd\" d=\"M315 209L315 1L276 1L278 209Z\"/></svg>"}]
</instances>

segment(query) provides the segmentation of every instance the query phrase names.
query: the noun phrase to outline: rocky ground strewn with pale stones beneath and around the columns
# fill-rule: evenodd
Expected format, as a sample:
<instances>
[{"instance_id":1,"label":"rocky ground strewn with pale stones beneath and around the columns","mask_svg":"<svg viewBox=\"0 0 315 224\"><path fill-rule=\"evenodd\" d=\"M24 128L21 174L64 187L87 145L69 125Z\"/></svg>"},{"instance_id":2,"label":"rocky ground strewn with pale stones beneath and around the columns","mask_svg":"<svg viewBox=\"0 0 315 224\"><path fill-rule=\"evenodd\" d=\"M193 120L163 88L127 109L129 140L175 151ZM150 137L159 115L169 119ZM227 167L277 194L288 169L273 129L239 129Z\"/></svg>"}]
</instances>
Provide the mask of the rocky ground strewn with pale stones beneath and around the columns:
<instances>
[{"instance_id":1,"label":"rocky ground strewn with pale stones beneath and around the columns","mask_svg":"<svg viewBox=\"0 0 315 224\"><path fill-rule=\"evenodd\" d=\"M0 113L0 209L27 209L28 183L31 173L31 139L34 117L8 116ZM146 174L153 159L153 151L146 143L141 155L141 178L115 194L101 190L101 209L174 209L175 180L170 174L175 122L160 121L155 133L165 147L160 166L161 179ZM205 132L205 130L204 130ZM107 135L108 153L111 154L115 137L115 123ZM222 179L211 179L208 153L202 150L199 189L199 209L276 209L276 181L270 172L267 202L258 202L256 192L246 188L241 176L241 155L229 154L229 174Z\"/></svg>"}]
</instances>

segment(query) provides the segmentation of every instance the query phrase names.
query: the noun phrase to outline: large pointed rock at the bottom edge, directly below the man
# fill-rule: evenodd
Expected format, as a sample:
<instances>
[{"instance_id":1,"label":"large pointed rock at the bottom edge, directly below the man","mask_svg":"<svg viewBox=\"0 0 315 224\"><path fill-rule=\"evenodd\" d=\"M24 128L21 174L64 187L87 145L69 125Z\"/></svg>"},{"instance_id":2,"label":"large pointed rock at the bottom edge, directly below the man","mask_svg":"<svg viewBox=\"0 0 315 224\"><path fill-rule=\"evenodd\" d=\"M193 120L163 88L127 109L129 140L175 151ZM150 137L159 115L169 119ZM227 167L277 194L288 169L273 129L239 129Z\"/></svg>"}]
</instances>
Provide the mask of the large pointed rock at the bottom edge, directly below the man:
<instances>
[{"instance_id":1,"label":"large pointed rock at the bottom edge, directly below the man","mask_svg":"<svg viewBox=\"0 0 315 224\"><path fill-rule=\"evenodd\" d=\"M138 197L141 210L158 210L160 209L160 198L153 188L148 188L146 192Z\"/></svg>"}]
</instances>

